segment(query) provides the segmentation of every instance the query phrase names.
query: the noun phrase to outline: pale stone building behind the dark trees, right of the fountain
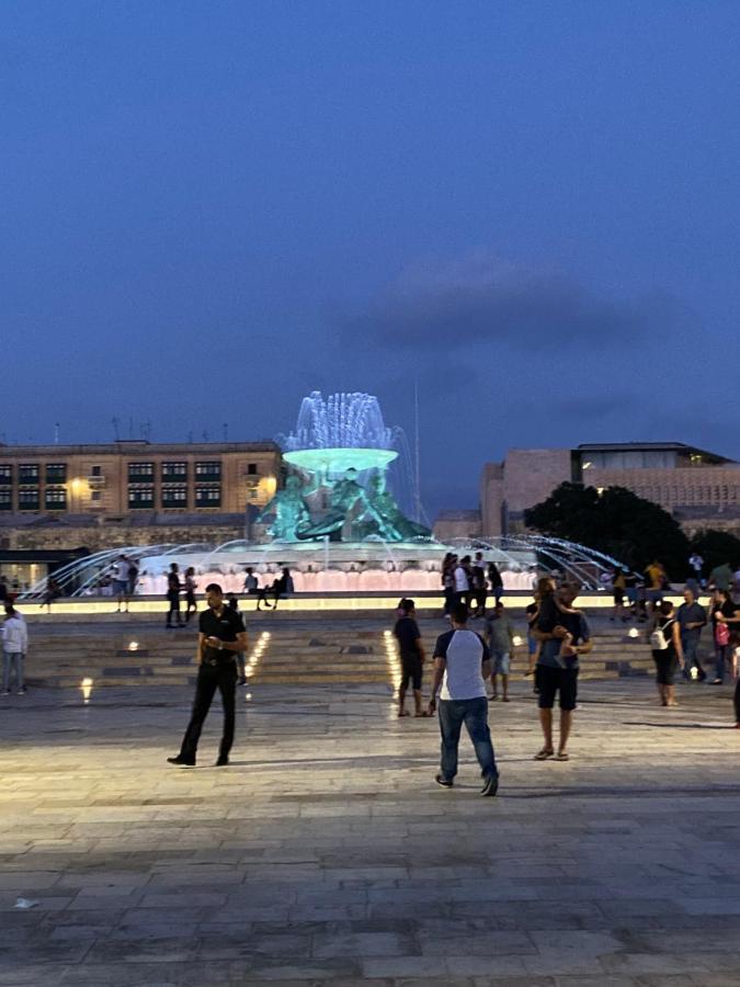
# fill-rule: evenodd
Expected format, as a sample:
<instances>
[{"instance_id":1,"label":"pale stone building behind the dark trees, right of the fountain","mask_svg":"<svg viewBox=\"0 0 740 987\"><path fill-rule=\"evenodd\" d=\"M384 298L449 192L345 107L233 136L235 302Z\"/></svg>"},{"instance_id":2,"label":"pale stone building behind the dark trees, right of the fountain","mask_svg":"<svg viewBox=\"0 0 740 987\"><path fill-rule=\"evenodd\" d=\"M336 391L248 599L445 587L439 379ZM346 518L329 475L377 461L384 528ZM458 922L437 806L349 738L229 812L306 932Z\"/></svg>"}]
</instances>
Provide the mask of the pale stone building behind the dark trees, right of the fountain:
<instances>
[{"instance_id":1,"label":"pale stone building behind the dark trees, right of the fountain","mask_svg":"<svg viewBox=\"0 0 740 987\"><path fill-rule=\"evenodd\" d=\"M502 463L483 465L480 514L456 512L455 532L465 524L471 537L521 532L525 510L566 480L626 487L672 513L687 533L714 527L740 534L740 463L681 442L509 450ZM441 515L435 533L446 526Z\"/></svg>"}]
</instances>

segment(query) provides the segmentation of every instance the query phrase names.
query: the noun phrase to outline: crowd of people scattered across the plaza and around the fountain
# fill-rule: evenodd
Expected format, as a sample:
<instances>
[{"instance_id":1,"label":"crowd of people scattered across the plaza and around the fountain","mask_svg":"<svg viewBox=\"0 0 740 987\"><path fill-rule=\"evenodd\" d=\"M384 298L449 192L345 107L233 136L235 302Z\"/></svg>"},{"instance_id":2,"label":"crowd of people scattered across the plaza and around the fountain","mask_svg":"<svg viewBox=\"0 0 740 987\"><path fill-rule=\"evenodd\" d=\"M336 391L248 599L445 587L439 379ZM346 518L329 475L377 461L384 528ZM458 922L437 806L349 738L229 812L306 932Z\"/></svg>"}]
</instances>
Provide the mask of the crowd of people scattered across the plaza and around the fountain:
<instances>
[{"instance_id":1,"label":"crowd of people scattered across the plaza and around the fountain","mask_svg":"<svg viewBox=\"0 0 740 987\"><path fill-rule=\"evenodd\" d=\"M710 634L714 676L709 683L720 685L729 679L736 683L736 727L740 728L740 572L732 567L716 567L705 579L703 560L694 558L694 575L686 580L683 602L674 606L665 599L669 590L665 570L654 560L645 578L624 569L615 569L604 583L614 594L611 621L634 620L647 623L646 642L656 667L656 683L662 706L678 705L675 679L687 683L707 680L699 657L703 633ZM113 585L118 611L128 609L138 570L122 555L113 568ZM4 583L3 583L4 587ZM441 634L432 654L431 693L423 700L425 653L412 600L402 599L394 627L398 642L401 678L398 683L398 715L410 715L406 708L409 692L418 717L437 715L441 764L436 775L443 787L452 787L457 773L458 744L465 725L478 758L483 779L481 794L496 795L499 771L488 727L488 703L510 701L509 685L512 660L524 639L503 602L503 581L497 566L485 563L482 553L458 558L448 554L442 569L444 616L449 628ZM29 635L22 614L14 608L11 594L4 594L5 620L2 625L2 694L11 691L15 680L19 694L25 693L23 663ZM708 606L699 602L702 590L709 593ZM228 763L234 740L235 690L246 683L244 653L247 628L234 593L221 592L216 583L205 589L206 609L197 612L197 581L191 567L181 578L172 563L168 574L167 627L185 626L198 620L198 677L191 722L180 752L168 760L180 767L195 763L197 741L215 692L221 694L225 713L224 737L217 763ZM490 595L493 598L489 600ZM260 587L253 568L247 567L243 592L262 605L275 609L278 600L293 592L289 569ZM568 741L577 707L579 658L593 647L589 621L576 606L579 588L551 576L537 580L534 599L525 608L527 663L524 676L534 677L543 746L535 760L567 761ZM184 620L181 599L184 593ZM272 598L272 604L270 603ZM480 633L468 623L481 619ZM709 628L705 632L705 628ZM637 632L631 632L637 633ZM559 730L555 742L553 710L559 705Z\"/></svg>"}]
</instances>

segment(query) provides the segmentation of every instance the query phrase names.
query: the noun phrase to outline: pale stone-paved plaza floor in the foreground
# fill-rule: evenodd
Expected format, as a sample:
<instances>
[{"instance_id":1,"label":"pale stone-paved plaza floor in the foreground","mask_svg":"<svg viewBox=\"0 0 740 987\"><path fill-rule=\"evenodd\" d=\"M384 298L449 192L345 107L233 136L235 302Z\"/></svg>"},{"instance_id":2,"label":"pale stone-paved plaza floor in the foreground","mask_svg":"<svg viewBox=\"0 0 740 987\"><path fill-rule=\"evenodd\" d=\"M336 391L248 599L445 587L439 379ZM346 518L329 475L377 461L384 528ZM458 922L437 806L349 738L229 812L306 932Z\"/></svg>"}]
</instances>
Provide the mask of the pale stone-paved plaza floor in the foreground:
<instances>
[{"instance_id":1,"label":"pale stone-paved plaza floor in the foreground","mask_svg":"<svg viewBox=\"0 0 740 987\"><path fill-rule=\"evenodd\" d=\"M587 682L568 763L530 685L435 786L436 721L383 685L260 687L234 763L170 768L191 690L0 707L0 984L740 984L730 690ZM14 907L19 898L37 904Z\"/></svg>"}]
</instances>

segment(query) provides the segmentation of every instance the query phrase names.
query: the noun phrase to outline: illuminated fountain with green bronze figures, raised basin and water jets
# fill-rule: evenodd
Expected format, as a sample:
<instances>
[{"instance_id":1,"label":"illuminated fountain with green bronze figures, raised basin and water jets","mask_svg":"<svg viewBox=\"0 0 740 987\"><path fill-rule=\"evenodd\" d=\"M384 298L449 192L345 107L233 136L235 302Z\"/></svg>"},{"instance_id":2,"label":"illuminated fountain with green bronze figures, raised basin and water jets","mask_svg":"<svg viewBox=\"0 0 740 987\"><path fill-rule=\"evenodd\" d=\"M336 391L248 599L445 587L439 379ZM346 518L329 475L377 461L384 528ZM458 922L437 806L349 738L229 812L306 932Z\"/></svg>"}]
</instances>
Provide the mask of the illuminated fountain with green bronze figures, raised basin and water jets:
<instances>
[{"instance_id":1,"label":"illuminated fountain with green bronze figures, raised basin and water jets","mask_svg":"<svg viewBox=\"0 0 740 987\"><path fill-rule=\"evenodd\" d=\"M278 436L288 467L285 483L255 519L247 537L221 545L129 546L88 556L55 572L66 595L95 591L102 574L123 551L139 566L141 594L167 590L171 563L193 566L203 588L214 581L241 592L251 566L262 583L287 566L296 592L398 593L441 590L446 552L481 551L496 561L509 590L528 590L533 571L558 568L581 585L617 565L583 546L542 537L492 538L444 545L408 518L388 483L405 436L387 428L377 398L320 392L304 398L295 432ZM417 498L418 502L418 498ZM26 594L43 594L39 582Z\"/></svg>"}]
</instances>

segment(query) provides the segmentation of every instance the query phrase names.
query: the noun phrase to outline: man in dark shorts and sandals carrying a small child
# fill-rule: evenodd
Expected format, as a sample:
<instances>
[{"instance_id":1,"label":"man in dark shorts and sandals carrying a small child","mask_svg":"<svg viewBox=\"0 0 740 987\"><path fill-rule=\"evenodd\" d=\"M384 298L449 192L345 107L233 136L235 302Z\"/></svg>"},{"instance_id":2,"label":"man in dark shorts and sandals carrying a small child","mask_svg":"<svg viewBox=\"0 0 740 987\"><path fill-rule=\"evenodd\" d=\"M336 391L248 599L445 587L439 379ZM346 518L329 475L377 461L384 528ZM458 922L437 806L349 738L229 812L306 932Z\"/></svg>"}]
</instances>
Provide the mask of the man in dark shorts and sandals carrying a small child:
<instances>
[{"instance_id":1,"label":"man in dark shorts and sandals carrying a small child","mask_svg":"<svg viewBox=\"0 0 740 987\"><path fill-rule=\"evenodd\" d=\"M573 710L578 697L578 658L592 648L591 632L585 616L573 609L577 590L571 586L561 586L555 593L557 608L551 625L549 614L543 619L543 610L536 625L536 636L542 647L537 659L537 685L539 693L539 724L543 730L544 746L535 755L536 761L554 758L556 761L569 760L566 750L573 722ZM557 753L553 745L553 706L558 696L560 705L560 738Z\"/></svg>"}]
</instances>

